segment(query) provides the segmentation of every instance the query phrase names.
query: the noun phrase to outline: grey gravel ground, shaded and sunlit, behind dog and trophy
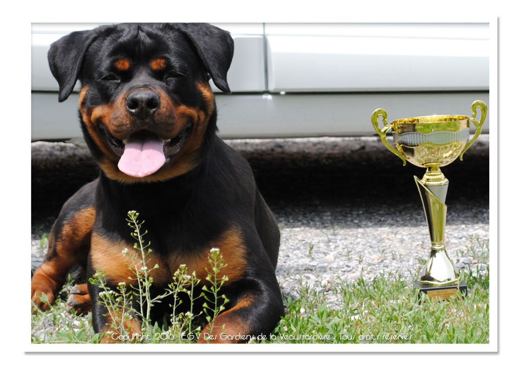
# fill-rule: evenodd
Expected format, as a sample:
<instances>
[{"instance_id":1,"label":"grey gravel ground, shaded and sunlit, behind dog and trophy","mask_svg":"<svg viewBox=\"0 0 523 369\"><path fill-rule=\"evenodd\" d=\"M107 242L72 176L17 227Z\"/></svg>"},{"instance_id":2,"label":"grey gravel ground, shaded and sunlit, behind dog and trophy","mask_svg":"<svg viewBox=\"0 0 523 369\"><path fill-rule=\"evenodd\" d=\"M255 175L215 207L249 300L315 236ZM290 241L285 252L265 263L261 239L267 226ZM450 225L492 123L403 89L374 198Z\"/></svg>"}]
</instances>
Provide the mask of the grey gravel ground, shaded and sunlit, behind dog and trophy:
<instances>
[{"instance_id":1,"label":"grey gravel ground, shaded and sunlit, behind dog and trophy","mask_svg":"<svg viewBox=\"0 0 523 369\"><path fill-rule=\"evenodd\" d=\"M227 142L251 163L278 219L276 273L283 293L297 297L306 283L337 305L334 287L341 281L360 276L369 280L396 270L407 279L418 275L430 242L412 175L422 176L423 169L402 167L375 137ZM78 143L33 142L31 152L35 269L46 247L38 235L49 231L61 204L94 178L97 169ZM444 173L450 180L449 256L458 268L478 264L484 270L476 254L489 237L488 135L469 150L463 163L453 163Z\"/></svg>"}]
</instances>

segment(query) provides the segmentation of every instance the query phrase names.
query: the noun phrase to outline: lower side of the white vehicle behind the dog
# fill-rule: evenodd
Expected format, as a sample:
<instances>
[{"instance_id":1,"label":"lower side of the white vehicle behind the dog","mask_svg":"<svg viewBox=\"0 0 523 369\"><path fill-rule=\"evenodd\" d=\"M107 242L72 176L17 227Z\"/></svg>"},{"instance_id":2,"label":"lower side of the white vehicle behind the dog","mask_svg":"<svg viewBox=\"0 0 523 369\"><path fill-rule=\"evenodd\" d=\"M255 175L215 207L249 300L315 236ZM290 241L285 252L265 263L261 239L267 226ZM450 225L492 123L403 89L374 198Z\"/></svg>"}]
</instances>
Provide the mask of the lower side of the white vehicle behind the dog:
<instances>
[{"instance_id":1,"label":"lower side of the white vehicle behind the dog","mask_svg":"<svg viewBox=\"0 0 523 369\"><path fill-rule=\"evenodd\" d=\"M33 23L32 140L82 136L77 94L58 103L47 52L62 35L98 25ZM215 25L235 43L232 93L213 86L222 138L372 136L377 108L402 118L488 105L488 23Z\"/></svg>"}]
</instances>

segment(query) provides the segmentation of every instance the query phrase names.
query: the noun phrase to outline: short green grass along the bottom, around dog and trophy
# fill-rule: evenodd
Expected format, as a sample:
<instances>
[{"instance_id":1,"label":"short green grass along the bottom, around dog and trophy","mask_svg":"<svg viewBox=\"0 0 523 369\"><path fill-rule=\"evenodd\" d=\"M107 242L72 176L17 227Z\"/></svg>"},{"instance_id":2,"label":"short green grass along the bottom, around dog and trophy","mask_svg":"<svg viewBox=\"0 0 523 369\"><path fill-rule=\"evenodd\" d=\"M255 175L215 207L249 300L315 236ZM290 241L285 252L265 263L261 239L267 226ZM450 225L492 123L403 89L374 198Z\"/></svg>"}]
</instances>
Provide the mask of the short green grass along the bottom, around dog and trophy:
<instances>
[{"instance_id":1,"label":"short green grass along the bottom, around dog and trophy","mask_svg":"<svg viewBox=\"0 0 523 369\"><path fill-rule=\"evenodd\" d=\"M486 273L470 270L464 275L469 295L463 299L437 301L422 296L393 273L366 282L340 283L335 293L340 307L329 307L325 293L304 286L297 300L285 296L286 315L274 330L271 343L488 343L489 303ZM66 285L64 291L71 287ZM77 317L67 312L61 299L49 312L32 316L33 330L48 326L43 337L32 342L96 343L90 313ZM153 336L166 330L154 327ZM152 342L190 343L180 332L167 332L169 339ZM321 335L321 336L314 336ZM152 343L144 342L144 343ZM265 342L267 343L267 342Z\"/></svg>"}]
</instances>

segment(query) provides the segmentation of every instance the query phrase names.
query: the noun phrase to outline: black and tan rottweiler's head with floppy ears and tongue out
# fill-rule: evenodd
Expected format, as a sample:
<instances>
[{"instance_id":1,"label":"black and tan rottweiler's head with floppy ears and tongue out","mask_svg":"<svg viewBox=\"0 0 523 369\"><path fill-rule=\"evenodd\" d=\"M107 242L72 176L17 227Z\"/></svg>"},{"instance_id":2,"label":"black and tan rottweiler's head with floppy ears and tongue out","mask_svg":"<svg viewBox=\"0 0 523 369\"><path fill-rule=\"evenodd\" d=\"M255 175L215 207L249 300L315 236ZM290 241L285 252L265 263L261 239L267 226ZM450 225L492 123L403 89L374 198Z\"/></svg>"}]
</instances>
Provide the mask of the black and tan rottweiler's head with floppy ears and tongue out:
<instances>
[{"instance_id":1,"label":"black and tan rottweiler's head with floppy ears and tongue out","mask_svg":"<svg viewBox=\"0 0 523 369\"><path fill-rule=\"evenodd\" d=\"M204 23L121 24L54 42L49 65L59 101L81 81L79 112L89 149L119 182L185 174L216 130L209 79L230 92L230 34Z\"/></svg>"}]
</instances>

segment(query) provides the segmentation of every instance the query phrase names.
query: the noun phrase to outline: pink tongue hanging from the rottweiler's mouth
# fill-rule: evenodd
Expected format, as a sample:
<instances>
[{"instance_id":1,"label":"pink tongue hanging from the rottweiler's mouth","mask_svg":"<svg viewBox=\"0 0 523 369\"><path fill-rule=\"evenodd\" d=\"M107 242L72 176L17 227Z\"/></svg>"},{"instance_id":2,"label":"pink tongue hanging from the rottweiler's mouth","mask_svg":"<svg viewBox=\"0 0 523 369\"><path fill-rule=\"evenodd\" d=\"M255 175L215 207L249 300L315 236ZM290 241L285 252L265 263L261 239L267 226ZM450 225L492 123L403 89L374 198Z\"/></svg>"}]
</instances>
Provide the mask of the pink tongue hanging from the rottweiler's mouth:
<instances>
[{"instance_id":1,"label":"pink tongue hanging from the rottweiler's mouth","mask_svg":"<svg viewBox=\"0 0 523 369\"><path fill-rule=\"evenodd\" d=\"M153 174L165 164L163 140L158 137L130 137L118 162L118 169L133 177Z\"/></svg>"}]
</instances>

